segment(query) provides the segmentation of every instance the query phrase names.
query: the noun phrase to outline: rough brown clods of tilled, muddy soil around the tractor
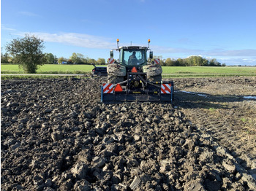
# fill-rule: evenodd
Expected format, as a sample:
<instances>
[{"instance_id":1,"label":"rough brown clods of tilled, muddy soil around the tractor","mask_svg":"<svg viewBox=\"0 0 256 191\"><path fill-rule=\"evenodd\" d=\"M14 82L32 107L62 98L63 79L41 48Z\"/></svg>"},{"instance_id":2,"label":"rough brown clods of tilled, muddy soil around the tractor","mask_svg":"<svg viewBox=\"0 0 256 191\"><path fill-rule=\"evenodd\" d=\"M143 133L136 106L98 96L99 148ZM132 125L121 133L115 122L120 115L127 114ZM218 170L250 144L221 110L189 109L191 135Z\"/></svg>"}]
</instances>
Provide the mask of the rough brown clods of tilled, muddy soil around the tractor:
<instances>
[{"instance_id":1,"label":"rough brown clods of tilled, muddy soil around the tractor","mask_svg":"<svg viewBox=\"0 0 256 191\"><path fill-rule=\"evenodd\" d=\"M1 80L1 190L256 190L255 77L173 79L174 106L104 80Z\"/></svg>"}]
</instances>

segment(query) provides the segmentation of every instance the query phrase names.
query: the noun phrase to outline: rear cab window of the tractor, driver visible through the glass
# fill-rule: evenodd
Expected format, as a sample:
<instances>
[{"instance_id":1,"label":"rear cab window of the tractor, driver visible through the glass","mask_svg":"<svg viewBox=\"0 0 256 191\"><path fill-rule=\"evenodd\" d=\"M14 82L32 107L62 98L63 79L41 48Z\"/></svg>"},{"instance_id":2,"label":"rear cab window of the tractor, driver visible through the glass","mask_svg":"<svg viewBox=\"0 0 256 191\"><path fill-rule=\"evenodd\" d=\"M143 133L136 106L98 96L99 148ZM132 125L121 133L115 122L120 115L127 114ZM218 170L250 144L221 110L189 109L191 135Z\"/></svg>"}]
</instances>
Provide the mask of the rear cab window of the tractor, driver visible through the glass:
<instances>
[{"instance_id":1,"label":"rear cab window of the tractor, driver visible through the glass","mask_svg":"<svg viewBox=\"0 0 256 191\"><path fill-rule=\"evenodd\" d=\"M140 65L145 63L144 50L124 50L124 64Z\"/></svg>"}]
</instances>

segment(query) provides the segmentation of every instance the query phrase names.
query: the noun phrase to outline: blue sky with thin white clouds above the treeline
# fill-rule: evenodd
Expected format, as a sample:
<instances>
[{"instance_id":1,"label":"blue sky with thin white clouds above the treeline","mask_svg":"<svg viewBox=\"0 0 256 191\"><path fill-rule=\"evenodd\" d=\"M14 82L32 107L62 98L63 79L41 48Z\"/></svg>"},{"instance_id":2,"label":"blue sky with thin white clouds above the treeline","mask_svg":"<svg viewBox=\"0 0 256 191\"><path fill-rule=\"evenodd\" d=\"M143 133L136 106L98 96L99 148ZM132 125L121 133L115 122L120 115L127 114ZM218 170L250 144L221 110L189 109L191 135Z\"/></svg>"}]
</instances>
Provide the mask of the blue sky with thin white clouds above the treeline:
<instances>
[{"instance_id":1,"label":"blue sky with thin white clouds above the treeline","mask_svg":"<svg viewBox=\"0 0 256 191\"><path fill-rule=\"evenodd\" d=\"M255 0L1 0L1 47L34 34L44 39L44 52L97 60L109 58L116 39L120 46L151 39L162 58L255 66L255 10Z\"/></svg>"}]
</instances>

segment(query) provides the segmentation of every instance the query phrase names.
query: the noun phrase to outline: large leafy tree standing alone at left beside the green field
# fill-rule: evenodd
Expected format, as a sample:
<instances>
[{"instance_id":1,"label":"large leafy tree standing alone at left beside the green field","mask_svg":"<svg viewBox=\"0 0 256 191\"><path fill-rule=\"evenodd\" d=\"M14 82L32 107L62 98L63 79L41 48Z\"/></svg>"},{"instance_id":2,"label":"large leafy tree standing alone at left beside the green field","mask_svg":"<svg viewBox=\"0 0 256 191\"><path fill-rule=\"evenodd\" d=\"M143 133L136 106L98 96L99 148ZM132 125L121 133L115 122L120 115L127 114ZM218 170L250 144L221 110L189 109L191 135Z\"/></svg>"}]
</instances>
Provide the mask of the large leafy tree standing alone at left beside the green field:
<instances>
[{"instance_id":1,"label":"large leafy tree standing alone at left beside the green field","mask_svg":"<svg viewBox=\"0 0 256 191\"><path fill-rule=\"evenodd\" d=\"M15 58L25 73L36 73L38 66L44 63L44 41L36 36L26 34L22 39L13 39L6 50Z\"/></svg>"}]
</instances>

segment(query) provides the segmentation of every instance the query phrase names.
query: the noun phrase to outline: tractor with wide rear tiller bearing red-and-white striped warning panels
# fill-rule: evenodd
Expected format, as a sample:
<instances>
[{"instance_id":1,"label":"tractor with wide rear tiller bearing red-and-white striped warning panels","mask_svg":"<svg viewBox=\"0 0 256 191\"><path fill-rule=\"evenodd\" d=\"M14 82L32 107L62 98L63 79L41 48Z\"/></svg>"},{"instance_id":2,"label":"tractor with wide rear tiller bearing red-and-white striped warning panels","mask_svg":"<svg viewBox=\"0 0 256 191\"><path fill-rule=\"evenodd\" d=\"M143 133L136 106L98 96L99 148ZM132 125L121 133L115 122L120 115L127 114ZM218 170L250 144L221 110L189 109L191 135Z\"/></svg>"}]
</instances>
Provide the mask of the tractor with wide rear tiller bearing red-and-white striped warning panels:
<instances>
[{"instance_id":1,"label":"tractor with wide rear tiller bearing red-and-white striped warning panels","mask_svg":"<svg viewBox=\"0 0 256 191\"><path fill-rule=\"evenodd\" d=\"M117 39L117 47L119 40ZM162 82L159 59L153 59L148 47L128 46L115 49L119 59L113 59L110 50L108 82L102 85L103 103L125 101L164 101L173 103L173 82ZM147 52L149 51L149 59Z\"/></svg>"}]
</instances>

